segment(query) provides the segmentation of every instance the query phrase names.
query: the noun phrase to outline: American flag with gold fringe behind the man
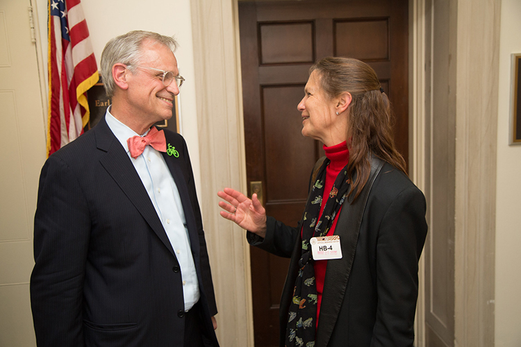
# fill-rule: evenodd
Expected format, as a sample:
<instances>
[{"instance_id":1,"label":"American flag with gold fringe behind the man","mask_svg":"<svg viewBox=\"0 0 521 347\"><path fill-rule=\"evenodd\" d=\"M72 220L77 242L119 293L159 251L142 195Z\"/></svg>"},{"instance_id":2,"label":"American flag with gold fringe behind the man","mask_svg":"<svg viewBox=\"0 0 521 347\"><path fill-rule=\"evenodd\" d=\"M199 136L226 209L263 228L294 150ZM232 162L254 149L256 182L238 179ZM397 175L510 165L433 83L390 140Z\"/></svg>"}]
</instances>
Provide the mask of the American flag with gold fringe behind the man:
<instances>
[{"instance_id":1,"label":"American flag with gold fringe behind the man","mask_svg":"<svg viewBox=\"0 0 521 347\"><path fill-rule=\"evenodd\" d=\"M98 79L80 0L49 0L47 155L83 133L90 115L85 92Z\"/></svg>"}]
</instances>

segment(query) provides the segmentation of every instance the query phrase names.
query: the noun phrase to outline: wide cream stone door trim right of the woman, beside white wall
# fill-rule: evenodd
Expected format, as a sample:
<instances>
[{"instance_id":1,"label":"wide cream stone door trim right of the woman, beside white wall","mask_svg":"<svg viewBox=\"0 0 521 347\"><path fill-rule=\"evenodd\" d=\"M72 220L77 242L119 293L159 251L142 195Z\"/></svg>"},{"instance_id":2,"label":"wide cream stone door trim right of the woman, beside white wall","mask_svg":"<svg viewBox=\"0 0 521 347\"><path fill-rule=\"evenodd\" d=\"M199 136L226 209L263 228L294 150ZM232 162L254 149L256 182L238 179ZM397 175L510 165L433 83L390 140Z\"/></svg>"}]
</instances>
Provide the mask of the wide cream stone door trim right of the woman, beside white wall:
<instances>
[{"instance_id":1,"label":"wide cream stone door trim right of the woman, beside white wall","mask_svg":"<svg viewBox=\"0 0 521 347\"><path fill-rule=\"evenodd\" d=\"M501 0L457 1L454 346L495 344Z\"/></svg>"}]
</instances>

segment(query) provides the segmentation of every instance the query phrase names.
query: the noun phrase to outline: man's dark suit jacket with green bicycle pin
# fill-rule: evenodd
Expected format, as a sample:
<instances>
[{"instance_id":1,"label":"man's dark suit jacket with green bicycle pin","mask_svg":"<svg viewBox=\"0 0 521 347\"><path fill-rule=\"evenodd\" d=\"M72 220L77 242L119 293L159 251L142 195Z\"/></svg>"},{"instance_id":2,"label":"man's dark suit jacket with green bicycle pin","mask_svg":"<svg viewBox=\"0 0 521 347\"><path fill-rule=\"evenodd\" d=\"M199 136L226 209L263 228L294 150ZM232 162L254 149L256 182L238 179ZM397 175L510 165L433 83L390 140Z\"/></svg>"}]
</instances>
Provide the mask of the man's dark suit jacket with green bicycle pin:
<instances>
[{"instance_id":1,"label":"man's dark suit jacket with green bicycle pin","mask_svg":"<svg viewBox=\"0 0 521 347\"><path fill-rule=\"evenodd\" d=\"M165 130L197 269L208 346L215 296L188 149ZM38 346L183 346L179 263L105 119L49 157L38 189L31 308Z\"/></svg>"}]
</instances>

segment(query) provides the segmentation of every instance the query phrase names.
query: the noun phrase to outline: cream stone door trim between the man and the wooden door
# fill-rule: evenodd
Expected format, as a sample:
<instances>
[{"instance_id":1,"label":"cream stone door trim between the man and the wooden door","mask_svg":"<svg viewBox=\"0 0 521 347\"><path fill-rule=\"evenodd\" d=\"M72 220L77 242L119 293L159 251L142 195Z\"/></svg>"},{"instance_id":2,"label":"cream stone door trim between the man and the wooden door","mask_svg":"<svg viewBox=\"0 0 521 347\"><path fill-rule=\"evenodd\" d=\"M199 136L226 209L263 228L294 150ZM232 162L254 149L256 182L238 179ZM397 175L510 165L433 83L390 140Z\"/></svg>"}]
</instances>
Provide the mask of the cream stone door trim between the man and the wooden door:
<instances>
[{"instance_id":1,"label":"cream stone door trim between the man and the wooden door","mask_svg":"<svg viewBox=\"0 0 521 347\"><path fill-rule=\"evenodd\" d=\"M217 192L246 192L237 0L193 0L201 209L217 296L221 346L254 346L249 246L220 217Z\"/></svg>"}]
</instances>

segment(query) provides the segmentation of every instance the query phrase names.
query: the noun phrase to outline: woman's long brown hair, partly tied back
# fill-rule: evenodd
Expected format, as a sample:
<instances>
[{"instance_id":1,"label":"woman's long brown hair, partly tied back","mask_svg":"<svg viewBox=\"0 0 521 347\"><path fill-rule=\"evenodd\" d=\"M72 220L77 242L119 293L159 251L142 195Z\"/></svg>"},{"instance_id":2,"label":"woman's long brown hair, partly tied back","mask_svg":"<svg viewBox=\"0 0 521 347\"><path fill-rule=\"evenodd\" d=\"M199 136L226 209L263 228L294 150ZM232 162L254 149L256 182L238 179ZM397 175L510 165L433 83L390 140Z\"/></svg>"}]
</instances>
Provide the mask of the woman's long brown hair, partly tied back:
<instances>
[{"instance_id":1,"label":"woman's long brown hair, partly tied back","mask_svg":"<svg viewBox=\"0 0 521 347\"><path fill-rule=\"evenodd\" d=\"M352 95L347 108L347 177L352 181L349 196L353 201L362 192L371 172L370 155L406 172L392 135L390 101L381 90L376 72L365 62L353 58L327 57L317 61L309 73L317 71L320 84L329 98L343 92ZM355 175L356 174L356 175Z\"/></svg>"}]
</instances>

